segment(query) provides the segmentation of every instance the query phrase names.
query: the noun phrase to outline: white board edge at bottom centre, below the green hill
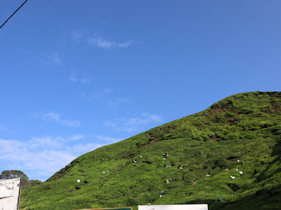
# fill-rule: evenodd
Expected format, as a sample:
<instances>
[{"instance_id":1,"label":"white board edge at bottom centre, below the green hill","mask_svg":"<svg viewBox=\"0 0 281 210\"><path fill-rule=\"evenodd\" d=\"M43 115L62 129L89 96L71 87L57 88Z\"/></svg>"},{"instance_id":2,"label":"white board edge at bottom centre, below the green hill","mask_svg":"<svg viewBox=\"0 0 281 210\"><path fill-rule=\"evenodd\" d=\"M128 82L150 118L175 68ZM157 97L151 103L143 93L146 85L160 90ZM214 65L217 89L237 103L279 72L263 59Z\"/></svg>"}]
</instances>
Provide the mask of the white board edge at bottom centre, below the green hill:
<instances>
[{"instance_id":1,"label":"white board edge at bottom centre, below the green hill","mask_svg":"<svg viewBox=\"0 0 281 210\"><path fill-rule=\"evenodd\" d=\"M208 210L208 204L149 205L138 206L138 210Z\"/></svg>"}]
</instances>

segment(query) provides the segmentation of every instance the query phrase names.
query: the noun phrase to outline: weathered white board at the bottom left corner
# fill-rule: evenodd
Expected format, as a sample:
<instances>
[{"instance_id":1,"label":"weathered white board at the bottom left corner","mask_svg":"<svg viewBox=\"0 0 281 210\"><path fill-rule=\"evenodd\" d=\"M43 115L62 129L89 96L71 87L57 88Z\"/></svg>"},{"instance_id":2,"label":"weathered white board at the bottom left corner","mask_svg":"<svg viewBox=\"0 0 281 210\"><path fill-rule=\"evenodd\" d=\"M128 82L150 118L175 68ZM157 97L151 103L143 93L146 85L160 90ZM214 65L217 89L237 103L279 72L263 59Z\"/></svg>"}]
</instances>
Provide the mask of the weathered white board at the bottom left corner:
<instances>
[{"instance_id":1,"label":"weathered white board at the bottom left corner","mask_svg":"<svg viewBox=\"0 0 281 210\"><path fill-rule=\"evenodd\" d=\"M20 178L0 180L0 210L16 210L20 196Z\"/></svg>"}]
</instances>

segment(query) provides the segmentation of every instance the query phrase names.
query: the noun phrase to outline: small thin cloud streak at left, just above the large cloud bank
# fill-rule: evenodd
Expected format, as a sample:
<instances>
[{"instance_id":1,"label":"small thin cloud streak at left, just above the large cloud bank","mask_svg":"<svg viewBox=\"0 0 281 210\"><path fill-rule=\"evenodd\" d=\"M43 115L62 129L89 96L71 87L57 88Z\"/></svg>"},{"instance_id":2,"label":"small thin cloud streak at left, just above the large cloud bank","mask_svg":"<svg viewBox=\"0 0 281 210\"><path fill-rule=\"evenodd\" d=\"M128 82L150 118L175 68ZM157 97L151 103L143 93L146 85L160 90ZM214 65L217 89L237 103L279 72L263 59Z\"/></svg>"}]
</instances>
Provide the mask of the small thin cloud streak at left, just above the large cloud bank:
<instances>
[{"instance_id":1,"label":"small thin cloud streak at left, just above the large cloud bank","mask_svg":"<svg viewBox=\"0 0 281 210\"><path fill-rule=\"evenodd\" d=\"M48 113L34 113L35 118L41 118L42 120L51 120L54 123L65 125L68 127L79 127L81 125L78 120L65 120L61 118L59 113L48 112Z\"/></svg>"}]
</instances>

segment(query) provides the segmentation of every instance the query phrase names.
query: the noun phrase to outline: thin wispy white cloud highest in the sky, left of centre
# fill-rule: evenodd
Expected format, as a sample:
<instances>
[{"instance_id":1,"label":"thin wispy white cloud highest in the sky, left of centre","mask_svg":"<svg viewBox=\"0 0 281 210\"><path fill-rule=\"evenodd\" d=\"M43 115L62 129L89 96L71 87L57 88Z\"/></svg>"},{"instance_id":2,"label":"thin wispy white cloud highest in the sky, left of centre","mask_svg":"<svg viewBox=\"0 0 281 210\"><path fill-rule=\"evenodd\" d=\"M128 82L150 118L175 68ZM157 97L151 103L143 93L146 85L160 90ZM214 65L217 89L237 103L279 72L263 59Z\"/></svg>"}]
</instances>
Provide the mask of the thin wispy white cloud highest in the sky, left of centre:
<instances>
[{"instance_id":1,"label":"thin wispy white cloud highest in the sky, left of centre","mask_svg":"<svg viewBox=\"0 0 281 210\"><path fill-rule=\"evenodd\" d=\"M96 45L99 48L103 48L103 49L109 49L112 47L128 48L129 45L131 45L133 43L132 40L126 41L124 43L118 43L115 41L106 40L105 38L100 38L98 36L92 36L91 38L87 38L86 41L87 41L87 43L89 43L91 45Z\"/></svg>"}]
</instances>

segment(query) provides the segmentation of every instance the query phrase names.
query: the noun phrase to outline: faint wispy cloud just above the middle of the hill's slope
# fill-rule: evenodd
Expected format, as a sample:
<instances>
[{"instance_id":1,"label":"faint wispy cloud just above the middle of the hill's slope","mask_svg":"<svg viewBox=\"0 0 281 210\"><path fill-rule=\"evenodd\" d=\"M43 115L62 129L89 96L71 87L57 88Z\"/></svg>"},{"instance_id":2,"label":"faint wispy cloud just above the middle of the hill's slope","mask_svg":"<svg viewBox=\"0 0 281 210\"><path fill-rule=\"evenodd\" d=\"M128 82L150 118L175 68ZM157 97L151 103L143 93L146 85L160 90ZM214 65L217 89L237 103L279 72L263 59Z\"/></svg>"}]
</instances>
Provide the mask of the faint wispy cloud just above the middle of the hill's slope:
<instances>
[{"instance_id":1,"label":"faint wispy cloud just above the middle of the hill's slope","mask_svg":"<svg viewBox=\"0 0 281 210\"><path fill-rule=\"evenodd\" d=\"M118 118L115 120L109 120L105 122L104 125L117 131L136 132L141 130L145 125L152 125L154 123L160 122L162 122L161 116L142 113L140 116L133 116L132 118Z\"/></svg>"}]
</instances>

